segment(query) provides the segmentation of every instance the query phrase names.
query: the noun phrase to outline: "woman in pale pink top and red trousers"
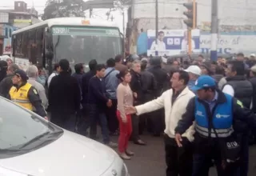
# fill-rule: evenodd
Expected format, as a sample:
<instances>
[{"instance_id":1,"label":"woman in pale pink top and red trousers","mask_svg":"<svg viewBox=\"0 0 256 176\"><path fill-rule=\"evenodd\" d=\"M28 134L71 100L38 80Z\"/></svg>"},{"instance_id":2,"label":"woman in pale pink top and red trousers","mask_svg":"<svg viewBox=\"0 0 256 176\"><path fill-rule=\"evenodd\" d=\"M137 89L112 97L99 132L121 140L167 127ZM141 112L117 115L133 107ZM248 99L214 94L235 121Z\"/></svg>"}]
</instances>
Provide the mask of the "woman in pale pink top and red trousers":
<instances>
[{"instance_id":1,"label":"woman in pale pink top and red trousers","mask_svg":"<svg viewBox=\"0 0 256 176\"><path fill-rule=\"evenodd\" d=\"M130 114L126 114L125 107L133 106L134 95L130 90L131 75L129 70L122 70L118 75L118 79L121 83L118 85L117 98L118 98L118 110L117 117L119 122L120 134L118 138L118 150L122 159L130 159L134 153L127 150L130 134L132 132L132 122Z\"/></svg>"}]
</instances>

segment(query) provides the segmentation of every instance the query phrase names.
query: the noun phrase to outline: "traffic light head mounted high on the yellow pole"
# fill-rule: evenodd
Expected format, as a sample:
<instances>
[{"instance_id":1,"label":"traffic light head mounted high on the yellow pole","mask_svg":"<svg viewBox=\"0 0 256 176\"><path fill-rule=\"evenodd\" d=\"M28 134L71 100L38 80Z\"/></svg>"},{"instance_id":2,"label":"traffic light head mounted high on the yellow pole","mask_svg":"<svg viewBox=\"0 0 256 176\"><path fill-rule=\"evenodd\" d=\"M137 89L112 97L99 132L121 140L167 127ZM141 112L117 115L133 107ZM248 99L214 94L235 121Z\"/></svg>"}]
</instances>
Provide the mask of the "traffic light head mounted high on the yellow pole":
<instances>
[{"instance_id":1,"label":"traffic light head mounted high on the yellow pole","mask_svg":"<svg viewBox=\"0 0 256 176\"><path fill-rule=\"evenodd\" d=\"M187 11L183 14L187 17L184 23L188 28L194 29L197 26L197 2L184 3Z\"/></svg>"}]
</instances>

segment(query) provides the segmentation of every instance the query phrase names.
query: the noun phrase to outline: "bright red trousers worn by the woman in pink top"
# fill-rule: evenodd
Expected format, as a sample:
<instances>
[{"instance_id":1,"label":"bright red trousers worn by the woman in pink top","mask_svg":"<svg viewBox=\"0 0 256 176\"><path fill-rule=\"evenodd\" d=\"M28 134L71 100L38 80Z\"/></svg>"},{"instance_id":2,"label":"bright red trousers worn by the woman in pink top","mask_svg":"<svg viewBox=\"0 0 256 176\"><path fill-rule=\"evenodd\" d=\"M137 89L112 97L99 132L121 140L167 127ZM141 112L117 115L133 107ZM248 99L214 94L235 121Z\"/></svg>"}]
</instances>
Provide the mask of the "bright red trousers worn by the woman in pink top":
<instances>
[{"instance_id":1,"label":"bright red trousers worn by the woman in pink top","mask_svg":"<svg viewBox=\"0 0 256 176\"><path fill-rule=\"evenodd\" d=\"M122 122L121 114L117 110L118 122L120 134L118 138L118 150L120 153L124 153L127 150L130 134L132 132L132 124L130 114L126 114L127 122Z\"/></svg>"}]
</instances>

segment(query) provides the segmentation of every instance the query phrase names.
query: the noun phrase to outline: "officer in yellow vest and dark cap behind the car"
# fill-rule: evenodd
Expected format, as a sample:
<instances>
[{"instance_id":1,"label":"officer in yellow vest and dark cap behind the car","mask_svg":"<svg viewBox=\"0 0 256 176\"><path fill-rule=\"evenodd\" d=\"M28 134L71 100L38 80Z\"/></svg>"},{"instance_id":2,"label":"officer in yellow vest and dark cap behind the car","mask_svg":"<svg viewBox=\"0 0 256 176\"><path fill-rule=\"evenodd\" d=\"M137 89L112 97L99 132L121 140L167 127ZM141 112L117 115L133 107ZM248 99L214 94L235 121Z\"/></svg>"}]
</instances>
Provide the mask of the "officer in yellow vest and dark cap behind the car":
<instances>
[{"instance_id":1,"label":"officer in yellow vest and dark cap behind the car","mask_svg":"<svg viewBox=\"0 0 256 176\"><path fill-rule=\"evenodd\" d=\"M42 100L38 95L38 91L27 82L28 77L24 70L16 70L12 78L13 86L10 88L10 100L27 110L36 110L36 113L44 118L46 110L42 106Z\"/></svg>"}]
</instances>

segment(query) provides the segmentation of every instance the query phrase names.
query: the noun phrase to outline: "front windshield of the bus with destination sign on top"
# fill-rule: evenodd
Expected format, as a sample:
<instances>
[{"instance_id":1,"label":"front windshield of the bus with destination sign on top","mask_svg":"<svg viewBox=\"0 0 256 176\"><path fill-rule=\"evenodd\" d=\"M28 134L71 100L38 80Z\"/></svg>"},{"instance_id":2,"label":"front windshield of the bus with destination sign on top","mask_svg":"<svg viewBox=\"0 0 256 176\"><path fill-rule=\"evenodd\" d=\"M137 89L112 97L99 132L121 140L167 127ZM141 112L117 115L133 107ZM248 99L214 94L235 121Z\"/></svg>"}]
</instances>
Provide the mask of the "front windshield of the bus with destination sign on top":
<instances>
[{"instance_id":1,"label":"front windshield of the bus with destination sign on top","mask_svg":"<svg viewBox=\"0 0 256 176\"><path fill-rule=\"evenodd\" d=\"M62 58L70 65L96 59L105 63L108 58L122 54L121 36L118 28L90 26L54 26L52 28L54 61Z\"/></svg>"}]
</instances>

